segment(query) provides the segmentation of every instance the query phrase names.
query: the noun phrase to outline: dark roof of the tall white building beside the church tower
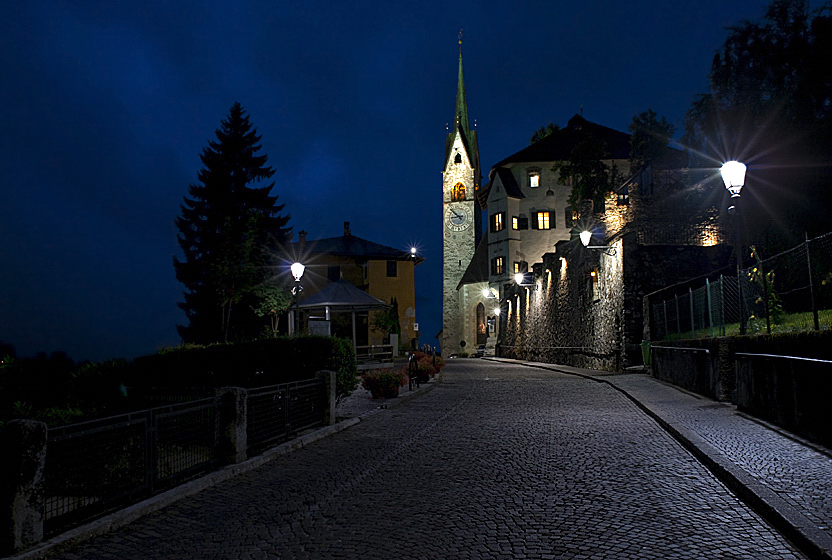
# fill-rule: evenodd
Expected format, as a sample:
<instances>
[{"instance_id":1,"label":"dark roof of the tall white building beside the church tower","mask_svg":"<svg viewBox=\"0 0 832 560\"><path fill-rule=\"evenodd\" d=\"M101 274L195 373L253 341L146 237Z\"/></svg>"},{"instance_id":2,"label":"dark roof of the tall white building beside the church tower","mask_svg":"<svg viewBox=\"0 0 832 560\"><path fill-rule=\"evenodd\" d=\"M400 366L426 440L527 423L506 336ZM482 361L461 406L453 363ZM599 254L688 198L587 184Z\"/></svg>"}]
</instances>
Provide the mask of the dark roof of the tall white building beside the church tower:
<instances>
[{"instance_id":1,"label":"dark roof of the tall white building beside the church tower","mask_svg":"<svg viewBox=\"0 0 832 560\"><path fill-rule=\"evenodd\" d=\"M575 115L569 119L565 128L561 128L538 140L531 146L510 155L499 162L494 168L509 163L530 163L536 161L565 161L572 156L575 145L583 140L587 134L603 141L607 146L610 159L629 159L630 135L606 126L595 124Z\"/></svg>"}]
</instances>

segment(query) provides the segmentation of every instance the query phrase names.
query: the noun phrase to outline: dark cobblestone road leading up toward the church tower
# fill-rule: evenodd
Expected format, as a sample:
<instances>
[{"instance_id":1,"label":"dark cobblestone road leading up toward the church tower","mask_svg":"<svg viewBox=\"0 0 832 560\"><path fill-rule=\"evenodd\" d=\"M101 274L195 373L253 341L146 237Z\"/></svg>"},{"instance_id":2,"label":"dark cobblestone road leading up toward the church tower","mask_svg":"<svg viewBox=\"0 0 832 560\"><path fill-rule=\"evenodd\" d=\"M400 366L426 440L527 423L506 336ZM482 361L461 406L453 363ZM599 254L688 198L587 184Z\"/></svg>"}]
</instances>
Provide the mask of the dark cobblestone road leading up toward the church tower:
<instances>
[{"instance_id":1,"label":"dark cobblestone road leading up toward the church tower","mask_svg":"<svg viewBox=\"0 0 832 560\"><path fill-rule=\"evenodd\" d=\"M614 388L482 360L55 557L802 558Z\"/></svg>"}]
</instances>

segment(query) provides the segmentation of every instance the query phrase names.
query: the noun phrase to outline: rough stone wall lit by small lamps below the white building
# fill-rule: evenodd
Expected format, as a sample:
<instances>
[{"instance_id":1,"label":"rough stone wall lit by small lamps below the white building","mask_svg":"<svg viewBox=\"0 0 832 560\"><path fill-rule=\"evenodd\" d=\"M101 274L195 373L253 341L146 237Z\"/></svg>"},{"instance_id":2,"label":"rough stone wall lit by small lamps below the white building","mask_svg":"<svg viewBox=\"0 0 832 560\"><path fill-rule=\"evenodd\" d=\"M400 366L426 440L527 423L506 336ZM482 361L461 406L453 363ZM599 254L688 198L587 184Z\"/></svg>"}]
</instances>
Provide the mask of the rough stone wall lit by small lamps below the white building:
<instances>
[{"instance_id":1,"label":"rough stone wall lit by small lamps below the white building","mask_svg":"<svg viewBox=\"0 0 832 560\"><path fill-rule=\"evenodd\" d=\"M731 249L637 240L626 233L606 251L561 242L544 255L534 285L508 292L502 355L610 371L641 365L644 296L724 266Z\"/></svg>"}]
</instances>

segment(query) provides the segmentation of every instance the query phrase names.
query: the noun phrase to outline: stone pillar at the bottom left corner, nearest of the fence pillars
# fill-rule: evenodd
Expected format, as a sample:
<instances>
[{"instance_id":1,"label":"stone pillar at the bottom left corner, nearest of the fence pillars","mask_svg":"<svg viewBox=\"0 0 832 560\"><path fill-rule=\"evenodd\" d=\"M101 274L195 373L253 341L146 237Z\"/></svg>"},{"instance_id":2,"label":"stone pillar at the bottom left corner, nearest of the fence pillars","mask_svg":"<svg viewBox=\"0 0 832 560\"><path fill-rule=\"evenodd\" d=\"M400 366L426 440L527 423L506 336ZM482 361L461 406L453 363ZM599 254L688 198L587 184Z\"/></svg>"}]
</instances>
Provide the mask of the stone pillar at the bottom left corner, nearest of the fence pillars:
<instances>
[{"instance_id":1,"label":"stone pillar at the bottom left corner, nearest of the fence pillars","mask_svg":"<svg viewBox=\"0 0 832 560\"><path fill-rule=\"evenodd\" d=\"M46 424L11 420L0 429L0 553L43 540Z\"/></svg>"}]
</instances>

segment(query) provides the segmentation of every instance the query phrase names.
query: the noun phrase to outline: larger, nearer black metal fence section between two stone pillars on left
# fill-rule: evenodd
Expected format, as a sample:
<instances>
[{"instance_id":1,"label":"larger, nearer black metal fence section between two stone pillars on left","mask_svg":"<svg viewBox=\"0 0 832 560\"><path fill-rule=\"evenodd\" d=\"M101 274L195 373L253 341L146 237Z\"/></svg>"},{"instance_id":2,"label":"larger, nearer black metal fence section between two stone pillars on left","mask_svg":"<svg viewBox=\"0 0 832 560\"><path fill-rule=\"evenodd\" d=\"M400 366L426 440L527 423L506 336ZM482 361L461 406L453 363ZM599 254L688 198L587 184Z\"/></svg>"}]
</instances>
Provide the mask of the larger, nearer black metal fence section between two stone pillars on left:
<instances>
[{"instance_id":1,"label":"larger, nearer black metal fence section between two stone pillars on left","mask_svg":"<svg viewBox=\"0 0 832 560\"><path fill-rule=\"evenodd\" d=\"M66 530L215 468L217 419L210 398L49 429L44 532Z\"/></svg>"}]
</instances>

